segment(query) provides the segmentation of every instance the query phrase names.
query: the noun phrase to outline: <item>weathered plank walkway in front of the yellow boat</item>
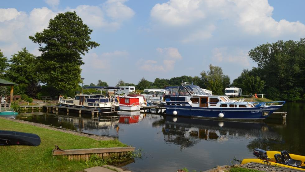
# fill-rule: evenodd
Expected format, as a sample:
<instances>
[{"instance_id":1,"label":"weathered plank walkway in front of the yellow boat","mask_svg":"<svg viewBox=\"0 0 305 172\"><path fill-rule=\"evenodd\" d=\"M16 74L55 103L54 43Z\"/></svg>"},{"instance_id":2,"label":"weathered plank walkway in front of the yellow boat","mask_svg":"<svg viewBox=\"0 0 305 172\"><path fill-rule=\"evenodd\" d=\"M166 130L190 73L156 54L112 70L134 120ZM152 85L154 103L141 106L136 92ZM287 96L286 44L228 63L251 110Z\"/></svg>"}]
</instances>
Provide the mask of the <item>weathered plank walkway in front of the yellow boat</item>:
<instances>
[{"instance_id":1,"label":"weathered plank walkway in front of the yellow boat","mask_svg":"<svg viewBox=\"0 0 305 172\"><path fill-rule=\"evenodd\" d=\"M256 163L256 162L250 162L247 164L243 164L241 167L260 170L260 171L266 171L266 172L277 172L277 171L304 172L304 170L297 170L297 169L291 169L291 168L280 167L280 166L276 167L274 165L267 165L267 164L261 164L261 163Z\"/></svg>"}]
</instances>

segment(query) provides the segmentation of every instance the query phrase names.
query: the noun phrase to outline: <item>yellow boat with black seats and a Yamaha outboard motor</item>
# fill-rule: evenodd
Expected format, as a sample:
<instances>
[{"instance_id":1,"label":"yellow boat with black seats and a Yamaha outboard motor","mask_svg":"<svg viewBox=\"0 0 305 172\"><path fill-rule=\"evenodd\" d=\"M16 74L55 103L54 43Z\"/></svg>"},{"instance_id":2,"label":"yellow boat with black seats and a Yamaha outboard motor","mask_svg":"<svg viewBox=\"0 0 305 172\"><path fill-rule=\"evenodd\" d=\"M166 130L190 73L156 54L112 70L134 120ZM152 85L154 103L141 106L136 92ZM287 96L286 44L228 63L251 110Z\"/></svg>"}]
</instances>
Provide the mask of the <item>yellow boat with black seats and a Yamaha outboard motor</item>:
<instances>
[{"instance_id":1,"label":"yellow boat with black seats and a Yamaha outboard motor","mask_svg":"<svg viewBox=\"0 0 305 172\"><path fill-rule=\"evenodd\" d=\"M257 159L243 159L241 164L257 162L305 171L305 156L289 154L287 151L265 151L258 148L254 149L253 155Z\"/></svg>"}]
</instances>

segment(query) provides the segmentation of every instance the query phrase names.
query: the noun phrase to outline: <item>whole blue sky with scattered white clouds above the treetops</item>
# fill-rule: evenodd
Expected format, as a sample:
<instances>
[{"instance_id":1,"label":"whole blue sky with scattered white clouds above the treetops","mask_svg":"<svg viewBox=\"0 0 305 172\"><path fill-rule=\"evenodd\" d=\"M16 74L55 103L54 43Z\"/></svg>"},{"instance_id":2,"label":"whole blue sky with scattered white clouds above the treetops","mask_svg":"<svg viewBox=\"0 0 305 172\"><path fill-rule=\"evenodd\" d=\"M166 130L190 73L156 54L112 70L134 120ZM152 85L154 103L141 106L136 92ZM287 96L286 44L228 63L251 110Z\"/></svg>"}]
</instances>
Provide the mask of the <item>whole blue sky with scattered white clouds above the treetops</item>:
<instances>
[{"instance_id":1,"label":"whole blue sky with scattered white clouds above the treetops","mask_svg":"<svg viewBox=\"0 0 305 172\"><path fill-rule=\"evenodd\" d=\"M259 44L305 37L303 0L3 1L0 49L7 58L48 26L59 12L76 11L100 47L83 56L84 84L120 79L137 84L182 75L199 76L209 64L231 82L256 63L247 52Z\"/></svg>"}]
</instances>

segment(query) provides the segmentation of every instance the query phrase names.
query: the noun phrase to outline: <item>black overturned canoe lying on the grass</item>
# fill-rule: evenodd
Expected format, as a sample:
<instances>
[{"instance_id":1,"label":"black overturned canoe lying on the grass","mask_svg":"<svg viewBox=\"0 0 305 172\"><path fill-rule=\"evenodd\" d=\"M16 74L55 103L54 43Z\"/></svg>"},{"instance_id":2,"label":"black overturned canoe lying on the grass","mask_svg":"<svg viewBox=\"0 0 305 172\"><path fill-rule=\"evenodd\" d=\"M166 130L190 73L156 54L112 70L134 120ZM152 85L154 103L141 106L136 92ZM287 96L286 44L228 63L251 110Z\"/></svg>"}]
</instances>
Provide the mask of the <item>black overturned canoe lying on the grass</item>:
<instances>
[{"instance_id":1,"label":"black overturned canoe lying on the grass","mask_svg":"<svg viewBox=\"0 0 305 172\"><path fill-rule=\"evenodd\" d=\"M0 145L40 145L40 137L27 132L0 130Z\"/></svg>"}]
</instances>

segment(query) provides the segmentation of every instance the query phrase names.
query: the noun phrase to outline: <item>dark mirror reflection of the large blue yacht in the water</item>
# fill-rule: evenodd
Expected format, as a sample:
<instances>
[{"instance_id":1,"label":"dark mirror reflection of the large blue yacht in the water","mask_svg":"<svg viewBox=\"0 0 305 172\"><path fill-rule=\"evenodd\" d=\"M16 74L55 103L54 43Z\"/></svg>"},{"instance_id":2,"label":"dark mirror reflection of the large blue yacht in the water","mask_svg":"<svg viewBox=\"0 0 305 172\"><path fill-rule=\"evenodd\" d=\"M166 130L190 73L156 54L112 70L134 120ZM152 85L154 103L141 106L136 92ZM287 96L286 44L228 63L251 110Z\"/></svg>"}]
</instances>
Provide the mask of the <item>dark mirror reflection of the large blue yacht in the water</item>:
<instances>
[{"instance_id":1,"label":"dark mirror reflection of the large blue yacht in the water","mask_svg":"<svg viewBox=\"0 0 305 172\"><path fill-rule=\"evenodd\" d=\"M190 147L201 139L227 142L230 139L243 137L256 138L263 132L269 132L269 127L263 122L218 121L208 119L191 119L183 117L164 116L155 121L154 126L162 126L166 142ZM270 134L270 133L269 133Z\"/></svg>"}]
</instances>

